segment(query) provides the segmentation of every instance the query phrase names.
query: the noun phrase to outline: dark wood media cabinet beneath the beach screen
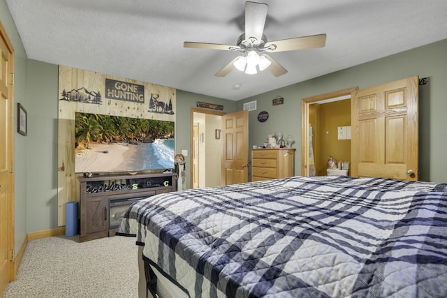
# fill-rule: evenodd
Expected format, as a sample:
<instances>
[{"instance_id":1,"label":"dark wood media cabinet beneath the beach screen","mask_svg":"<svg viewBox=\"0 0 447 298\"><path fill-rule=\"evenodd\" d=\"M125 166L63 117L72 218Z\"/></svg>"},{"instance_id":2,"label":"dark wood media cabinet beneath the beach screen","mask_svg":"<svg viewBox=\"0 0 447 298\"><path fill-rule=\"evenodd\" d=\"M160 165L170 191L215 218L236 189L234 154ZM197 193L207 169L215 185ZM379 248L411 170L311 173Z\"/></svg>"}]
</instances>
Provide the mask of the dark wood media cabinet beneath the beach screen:
<instances>
[{"instance_id":1,"label":"dark wood media cabinet beneath the beach screen","mask_svg":"<svg viewBox=\"0 0 447 298\"><path fill-rule=\"evenodd\" d=\"M80 177L79 241L115 235L117 217L130 204L176 191L176 177L175 173Z\"/></svg>"}]
</instances>

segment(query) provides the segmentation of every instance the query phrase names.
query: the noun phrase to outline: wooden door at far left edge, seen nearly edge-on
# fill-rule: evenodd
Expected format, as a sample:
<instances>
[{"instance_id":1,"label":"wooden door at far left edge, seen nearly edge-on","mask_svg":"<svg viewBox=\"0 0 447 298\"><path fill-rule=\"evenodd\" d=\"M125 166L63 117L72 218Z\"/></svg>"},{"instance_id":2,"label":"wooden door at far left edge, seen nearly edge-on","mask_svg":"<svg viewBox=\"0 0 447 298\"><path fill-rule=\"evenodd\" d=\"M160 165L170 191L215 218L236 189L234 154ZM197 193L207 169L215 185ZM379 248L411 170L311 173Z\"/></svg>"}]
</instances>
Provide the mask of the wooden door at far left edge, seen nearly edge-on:
<instances>
[{"instance_id":1,"label":"wooden door at far left edge, seen nearly edge-on","mask_svg":"<svg viewBox=\"0 0 447 298\"><path fill-rule=\"evenodd\" d=\"M14 272L13 45L0 23L0 296Z\"/></svg>"}]
</instances>

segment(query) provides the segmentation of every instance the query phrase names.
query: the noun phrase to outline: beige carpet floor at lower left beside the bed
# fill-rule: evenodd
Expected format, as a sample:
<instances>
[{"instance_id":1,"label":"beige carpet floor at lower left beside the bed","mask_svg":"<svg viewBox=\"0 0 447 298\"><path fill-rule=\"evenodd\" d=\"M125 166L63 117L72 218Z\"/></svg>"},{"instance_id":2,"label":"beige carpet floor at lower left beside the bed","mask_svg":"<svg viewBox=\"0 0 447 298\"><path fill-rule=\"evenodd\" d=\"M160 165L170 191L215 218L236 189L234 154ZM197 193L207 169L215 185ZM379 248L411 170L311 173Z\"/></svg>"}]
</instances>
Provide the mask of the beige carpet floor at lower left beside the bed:
<instances>
[{"instance_id":1,"label":"beige carpet floor at lower left beside the bed","mask_svg":"<svg viewBox=\"0 0 447 298\"><path fill-rule=\"evenodd\" d=\"M75 237L29 241L9 297L138 297L135 238L78 242Z\"/></svg>"}]
</instances>

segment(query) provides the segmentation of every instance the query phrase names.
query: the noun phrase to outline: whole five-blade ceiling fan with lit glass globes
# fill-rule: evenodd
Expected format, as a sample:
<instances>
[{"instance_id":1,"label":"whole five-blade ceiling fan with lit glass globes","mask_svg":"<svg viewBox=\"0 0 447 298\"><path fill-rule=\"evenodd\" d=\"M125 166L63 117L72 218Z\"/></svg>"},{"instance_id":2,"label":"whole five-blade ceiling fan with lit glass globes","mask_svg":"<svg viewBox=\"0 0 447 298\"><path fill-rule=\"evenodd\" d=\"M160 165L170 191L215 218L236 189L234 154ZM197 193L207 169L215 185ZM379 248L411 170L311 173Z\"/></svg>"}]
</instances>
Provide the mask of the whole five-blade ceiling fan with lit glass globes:
<instances>
[{"instance_id":1,"label":"whole five-blade ceiling fan with lit glass globes","mask_svg":"<svg viewBox=\"0 0 447 298\"><path fill-rule=\"evenodd\" d=\"M245 2L245 33L237 38L236 45L218 43L196 43L185 41L184 47L195 47L212 50L237 51L244 54L236 57L219 70L215 76L224 77L233 68L247 74L256 74L268 69L275 77L287 73L286 68L270 57L269 53L303 50L313 47L324 47L326 34L302 36L283 40L268 41L263 34L268 5L265 3ZM258 70L256 69L256 66Z\"/></svg>"}]
</instances>

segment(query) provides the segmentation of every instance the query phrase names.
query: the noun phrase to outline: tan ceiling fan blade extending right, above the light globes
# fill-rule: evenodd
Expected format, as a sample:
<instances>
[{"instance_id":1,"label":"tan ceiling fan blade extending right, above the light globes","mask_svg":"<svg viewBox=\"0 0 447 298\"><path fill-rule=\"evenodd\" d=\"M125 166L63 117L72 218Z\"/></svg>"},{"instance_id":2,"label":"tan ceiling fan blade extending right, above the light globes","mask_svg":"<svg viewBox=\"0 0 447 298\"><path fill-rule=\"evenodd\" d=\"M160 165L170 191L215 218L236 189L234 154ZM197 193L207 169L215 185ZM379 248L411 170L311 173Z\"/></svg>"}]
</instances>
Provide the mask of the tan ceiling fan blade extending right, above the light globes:
<instances>
[{"instance_id":1,"label":"tan ceiling fan blade extending right, above the light globes","mask_svg":"<svg viewBox=\"0 0 447 298\"><path fill-rule=\"evenodd\" d=\"M326 34L309 35L297 38L289 38L283 40L274 40L265 43L265 47L276 45L275 50L267 50L267 52L285 52L293 50L304 50L314 47L324 47L326 43Z\"/></svg>"}]
</instances>

